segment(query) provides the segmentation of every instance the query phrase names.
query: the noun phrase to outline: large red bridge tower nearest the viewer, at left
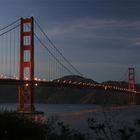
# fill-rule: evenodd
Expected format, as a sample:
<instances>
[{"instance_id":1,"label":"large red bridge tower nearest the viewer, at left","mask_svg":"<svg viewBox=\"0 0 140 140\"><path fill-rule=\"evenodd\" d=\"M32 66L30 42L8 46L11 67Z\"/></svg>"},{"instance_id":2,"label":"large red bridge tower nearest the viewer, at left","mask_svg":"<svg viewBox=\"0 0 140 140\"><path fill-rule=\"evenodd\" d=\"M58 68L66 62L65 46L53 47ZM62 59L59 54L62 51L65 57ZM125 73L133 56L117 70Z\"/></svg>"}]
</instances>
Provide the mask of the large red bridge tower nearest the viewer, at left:
<instances>
[{"instance_id":1,"label":"large red bridge tower nearest the viewer, at left","mask_svg":"<svg viewBox=\"0 0 140 140\"><path fill-rule=\"evenodd\" d=\"M28 54L29 58L25 56ZM28 80L34 80L34 19L20 19L20 66L19 78L25 80L25 74L28 72ZM27 80L27 79L26 79ZM19 85L18 88L18 111L34 111L34 85L27 80L26 84Z\"/></svg>"}]
</instances>

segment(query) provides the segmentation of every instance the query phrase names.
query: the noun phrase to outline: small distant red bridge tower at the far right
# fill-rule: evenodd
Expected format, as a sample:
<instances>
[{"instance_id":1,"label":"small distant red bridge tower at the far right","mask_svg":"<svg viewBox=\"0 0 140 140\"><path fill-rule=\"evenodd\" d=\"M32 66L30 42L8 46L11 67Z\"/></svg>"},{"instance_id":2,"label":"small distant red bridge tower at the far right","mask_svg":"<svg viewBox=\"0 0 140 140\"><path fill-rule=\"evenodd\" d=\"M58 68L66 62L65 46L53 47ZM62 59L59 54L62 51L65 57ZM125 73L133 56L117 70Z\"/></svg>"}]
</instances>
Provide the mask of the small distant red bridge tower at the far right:
<instances>
[{"instance_id":1,"label":"small distant red bridge tower at the far right","mask_svg":"<svg viewBox=\"0 0 140 140\"><path fill-rule=\"evenodd\" d=\"M129 94L129 104L135 104L135 68L128 68L128 90L131 91Z\"/></svg>"}]
</instances>

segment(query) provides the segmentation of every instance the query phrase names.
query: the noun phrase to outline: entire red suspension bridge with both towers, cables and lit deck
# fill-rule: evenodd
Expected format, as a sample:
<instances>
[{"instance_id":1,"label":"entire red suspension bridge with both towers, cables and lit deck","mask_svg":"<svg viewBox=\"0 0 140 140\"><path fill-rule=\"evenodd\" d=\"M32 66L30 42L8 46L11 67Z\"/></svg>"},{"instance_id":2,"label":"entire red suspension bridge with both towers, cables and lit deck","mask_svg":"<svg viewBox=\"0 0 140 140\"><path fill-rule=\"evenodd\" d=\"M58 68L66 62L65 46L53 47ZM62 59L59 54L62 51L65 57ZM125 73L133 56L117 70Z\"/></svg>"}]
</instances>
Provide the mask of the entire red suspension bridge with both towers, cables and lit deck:
<instances>
[{"instance_id":1,"label":"entire red suspension bridge with both towers, cables and lit deck","mask_svg":"<svg viewBox=\"0 0 140 140\"><path fill-rule=\"evenodd\" d=\"M129 94L135 104L135 69L129 68L128 88L106 84L54 80L64 75L82 75L58 50L38 22L20 18L0 29L0 85L18 85L18 112L34 112L37 86L94 88Z\"/></svg>"}]
</instances>

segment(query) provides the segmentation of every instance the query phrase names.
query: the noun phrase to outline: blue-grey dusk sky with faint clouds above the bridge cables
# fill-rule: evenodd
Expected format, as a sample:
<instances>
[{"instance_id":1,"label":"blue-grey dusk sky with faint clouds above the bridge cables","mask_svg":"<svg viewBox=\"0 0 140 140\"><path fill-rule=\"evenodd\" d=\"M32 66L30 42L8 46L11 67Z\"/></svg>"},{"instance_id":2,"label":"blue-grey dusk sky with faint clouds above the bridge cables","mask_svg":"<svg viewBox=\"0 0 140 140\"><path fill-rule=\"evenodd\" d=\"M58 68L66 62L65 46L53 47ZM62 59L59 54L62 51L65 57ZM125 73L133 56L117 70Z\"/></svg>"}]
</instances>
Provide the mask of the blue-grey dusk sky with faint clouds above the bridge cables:
<instances>
[{"instance_id":1,"label":"blue-grey dusk sky with faint clouds above the bridge cables","mask_svg":"<svg viewBox=\"0 0 140 140\"><path fill-rule=\"evenodd\" d=\"M0 28L21 16L34 16L85 77L120 80L134 66L140 82L139 0L0 0Z\"/></svg>"}]
</instances>

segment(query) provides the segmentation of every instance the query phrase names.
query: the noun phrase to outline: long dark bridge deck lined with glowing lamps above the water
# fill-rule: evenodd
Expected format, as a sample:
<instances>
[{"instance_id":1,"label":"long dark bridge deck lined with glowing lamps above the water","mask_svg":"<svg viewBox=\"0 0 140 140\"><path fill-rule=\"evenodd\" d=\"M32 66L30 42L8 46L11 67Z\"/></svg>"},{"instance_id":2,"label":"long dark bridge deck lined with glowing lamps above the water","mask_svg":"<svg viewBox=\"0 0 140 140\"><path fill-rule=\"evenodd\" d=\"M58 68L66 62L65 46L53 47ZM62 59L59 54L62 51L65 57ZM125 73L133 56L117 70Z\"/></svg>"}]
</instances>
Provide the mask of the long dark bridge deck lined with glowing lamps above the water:
<instances>
[{"instance_id":1,"label":"long dark bridge deck lined with glowing lamps above the water","mask_svg":"<svg viewBox=\"0 0 140 140\"><path fill-rule=\"evenodd\" d=\"M45 81L45 80L19 80L19 79L0 79L0 85L25 85L25 86L48 86L48 87L69 87L69 88L87 88L87 89L100 89L100 90L108 90L108 91L118 91L123 93L135 93L140 94L137 91L129 91L126 88L103 85L103 84L95 84L95 83L82 83L82 82L72 82L72 81Z\"/></svg>"}]
</instances>

